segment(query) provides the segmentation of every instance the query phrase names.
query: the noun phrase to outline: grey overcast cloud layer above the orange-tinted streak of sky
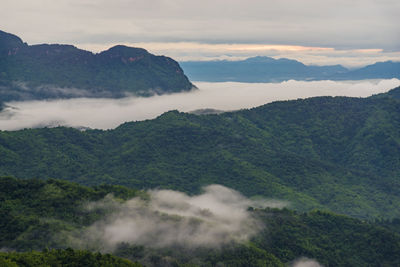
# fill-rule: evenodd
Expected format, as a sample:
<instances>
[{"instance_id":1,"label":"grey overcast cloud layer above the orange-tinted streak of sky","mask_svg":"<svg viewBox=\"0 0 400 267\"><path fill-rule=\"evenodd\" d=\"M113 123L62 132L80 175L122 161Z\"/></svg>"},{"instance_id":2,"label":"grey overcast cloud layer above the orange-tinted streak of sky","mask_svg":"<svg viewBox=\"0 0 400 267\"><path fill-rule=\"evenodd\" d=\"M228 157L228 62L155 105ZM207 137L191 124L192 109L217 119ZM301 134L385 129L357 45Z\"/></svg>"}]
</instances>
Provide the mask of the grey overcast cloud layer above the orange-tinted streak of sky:
<instances>
[{"instance_id":1,"label":"grey overcast cloud layer above the orange-tinted streak of sky","mask_svg":"<svg viewBox=\"0 0 400 267\"><path fill-rule=\"evenodd\" d=\"M399 10L396 0L3 0L0 16L4 30L33 43L266 43L399 51Z\"/></svg>"}]
</instances>

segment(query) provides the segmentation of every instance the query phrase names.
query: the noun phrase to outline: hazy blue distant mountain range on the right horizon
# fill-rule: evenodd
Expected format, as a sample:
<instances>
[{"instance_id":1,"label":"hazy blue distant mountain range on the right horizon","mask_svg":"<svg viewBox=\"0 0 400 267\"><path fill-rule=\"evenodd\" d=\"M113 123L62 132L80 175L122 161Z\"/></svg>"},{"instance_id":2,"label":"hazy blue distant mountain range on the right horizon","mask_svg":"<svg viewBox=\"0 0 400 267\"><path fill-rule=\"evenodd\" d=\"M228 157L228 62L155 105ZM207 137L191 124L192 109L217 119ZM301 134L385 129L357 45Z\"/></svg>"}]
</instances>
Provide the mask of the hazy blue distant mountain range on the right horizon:
<instances>
[{"instance_id":1,"label":"hazy blue distant mountain range on the right horizon","mask_svg":"<svg viewBox=\"0 0 400 267\"><path fill-rule=\"evenodd\" d=\"M400 62L380 62L358 70L341 65L312 66L287 58L252 57L240 61L182 61L191 80L207 82L281 82L287 80L361 80L400 78Z\"/></svg>"}]
</instances>

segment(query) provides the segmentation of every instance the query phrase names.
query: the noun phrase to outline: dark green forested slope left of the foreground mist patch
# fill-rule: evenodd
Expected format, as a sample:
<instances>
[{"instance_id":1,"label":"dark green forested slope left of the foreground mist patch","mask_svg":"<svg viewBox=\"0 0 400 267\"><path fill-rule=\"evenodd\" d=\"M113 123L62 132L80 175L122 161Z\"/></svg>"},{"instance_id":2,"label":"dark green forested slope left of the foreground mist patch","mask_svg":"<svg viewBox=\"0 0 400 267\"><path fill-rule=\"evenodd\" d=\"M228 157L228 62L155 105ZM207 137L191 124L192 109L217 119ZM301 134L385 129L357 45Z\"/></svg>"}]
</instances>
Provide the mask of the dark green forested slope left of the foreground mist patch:
<instances>
[{"instance_id":1,"label":"dark green forested slope left of the foreground mist patch","mask_svg":"<svg viewBox=\"0 0 400 267\"><path fill-rule=\"evenodd\" d=\"M62 236L55 238L57 233L89 225L104 216L101 210L85 210L83 205L89 201L103 199L110 193L121 200L145 197L121 186L89 188L54 179L3 177L0 189L0 247L18 250L66 248Z\"/></svg>"}]
</instances>

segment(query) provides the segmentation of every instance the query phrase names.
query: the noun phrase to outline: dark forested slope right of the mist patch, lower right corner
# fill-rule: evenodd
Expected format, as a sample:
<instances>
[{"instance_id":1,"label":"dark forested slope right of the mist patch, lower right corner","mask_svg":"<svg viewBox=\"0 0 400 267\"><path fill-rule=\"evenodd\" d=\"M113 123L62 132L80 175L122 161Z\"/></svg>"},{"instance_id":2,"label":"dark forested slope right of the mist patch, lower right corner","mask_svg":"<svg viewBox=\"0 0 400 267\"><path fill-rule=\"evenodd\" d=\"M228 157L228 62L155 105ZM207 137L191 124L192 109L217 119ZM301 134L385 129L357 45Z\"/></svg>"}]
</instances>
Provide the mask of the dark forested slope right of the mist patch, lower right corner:
<instances>
[{"instance_id":1,"label":"dark forested slope right of the mist patch, lower right corner","mask_svg":"<svg viewBox=\"0 0 400 267\"><path fill-rule=\"evenodd\" d=\"M283 262L298 255L324 266L399 266L400 235L343 215L258 211L268 225L254 243Z\"/></svg>"}]
</instances>

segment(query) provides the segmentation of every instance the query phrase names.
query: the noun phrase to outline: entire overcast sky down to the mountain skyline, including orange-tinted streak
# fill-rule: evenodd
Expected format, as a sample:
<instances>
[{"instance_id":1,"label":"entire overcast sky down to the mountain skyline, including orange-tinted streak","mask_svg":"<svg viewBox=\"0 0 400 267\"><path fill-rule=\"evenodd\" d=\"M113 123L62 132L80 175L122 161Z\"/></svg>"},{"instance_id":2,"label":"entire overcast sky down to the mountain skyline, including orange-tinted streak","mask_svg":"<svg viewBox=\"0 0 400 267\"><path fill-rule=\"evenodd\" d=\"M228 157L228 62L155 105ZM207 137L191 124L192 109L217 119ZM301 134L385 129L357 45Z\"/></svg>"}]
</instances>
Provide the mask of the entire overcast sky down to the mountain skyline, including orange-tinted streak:
<instances>
[{"instance_id":1,"label":"entire overcast sky down to the mountain skyline, including orange-tinted streak","mask_svg":"<svg viewBox=\"0 0 400 267\"><path fill-rule=\"evenodd\" d=\"M400 61L398 0L2 0L0 29L29 44L115 44L176 60L256 55L359 67Z\"/></svg>"}]
</instances>

